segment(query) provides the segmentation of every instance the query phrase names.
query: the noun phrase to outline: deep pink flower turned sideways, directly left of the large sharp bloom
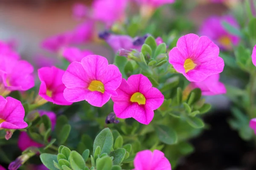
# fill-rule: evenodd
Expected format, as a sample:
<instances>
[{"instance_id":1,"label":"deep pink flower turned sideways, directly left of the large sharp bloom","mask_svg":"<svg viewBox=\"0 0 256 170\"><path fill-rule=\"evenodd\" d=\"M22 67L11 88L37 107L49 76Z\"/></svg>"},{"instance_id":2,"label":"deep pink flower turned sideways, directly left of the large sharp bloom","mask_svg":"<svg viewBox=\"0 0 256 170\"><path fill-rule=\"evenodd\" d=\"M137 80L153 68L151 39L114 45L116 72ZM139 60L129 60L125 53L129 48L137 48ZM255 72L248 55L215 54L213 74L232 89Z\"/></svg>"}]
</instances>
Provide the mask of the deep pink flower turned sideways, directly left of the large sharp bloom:
<instances>
[{"instance_id":1,"label":"deep pink flower turned sideways, directly left of the large sharp bloom","mask_svg":"<svg viewBox=\"0 0 256 170\"><path fill-rule=\"evenodd\" d=\"M55 66L38 69L38 77L41 80L39 95L56 105L71 105L72 103L67 102L63 96L65 89L65 85L61 80L63 74L64 70Z\"/></svg>"}]
</instances>

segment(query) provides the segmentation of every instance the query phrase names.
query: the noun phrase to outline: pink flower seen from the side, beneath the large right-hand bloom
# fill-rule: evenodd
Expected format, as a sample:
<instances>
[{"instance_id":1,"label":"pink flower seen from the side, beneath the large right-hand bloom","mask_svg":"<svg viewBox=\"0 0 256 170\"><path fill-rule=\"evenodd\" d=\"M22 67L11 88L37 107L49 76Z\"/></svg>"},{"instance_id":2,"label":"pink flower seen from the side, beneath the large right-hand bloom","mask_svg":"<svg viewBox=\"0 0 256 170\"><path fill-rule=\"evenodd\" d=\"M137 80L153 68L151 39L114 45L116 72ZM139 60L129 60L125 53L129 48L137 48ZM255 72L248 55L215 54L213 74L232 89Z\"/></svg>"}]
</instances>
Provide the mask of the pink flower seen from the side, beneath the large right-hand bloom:
<instances>
[{"instance_id":1,"label":"pink flower seen from the side, beneath the large right-hand bloom","mask_svg":"<svg viewBox=\"0 0 256 170\"><path fill-rule=\"evenodd\" d=\"M227 90L222 82L219 82L220 74L213 74L207 77L202 82L191 82L189 84L190 89L200 88L202 95L211 96L218 94L226 94Z\"/></svg>"}]
</instances>

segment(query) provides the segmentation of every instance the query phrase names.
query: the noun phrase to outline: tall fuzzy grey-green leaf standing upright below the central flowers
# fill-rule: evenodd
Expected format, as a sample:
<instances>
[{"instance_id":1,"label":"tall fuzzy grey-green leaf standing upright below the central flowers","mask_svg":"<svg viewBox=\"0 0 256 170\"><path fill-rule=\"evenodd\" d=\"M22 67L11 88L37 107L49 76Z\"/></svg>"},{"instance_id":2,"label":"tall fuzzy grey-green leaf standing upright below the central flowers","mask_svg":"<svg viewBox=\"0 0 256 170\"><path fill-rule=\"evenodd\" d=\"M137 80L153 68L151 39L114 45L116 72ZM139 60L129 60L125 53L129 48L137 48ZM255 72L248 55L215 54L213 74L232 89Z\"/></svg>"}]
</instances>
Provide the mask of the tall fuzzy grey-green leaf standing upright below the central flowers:
<instances>
[{"instance_id":1,"label":"tall fuzzy grey-green leaf standing upright below the central flowers","mask_svg":"<svg viewBox=\"0 0 256 170\"><path fill-rule=\"evenodd\" d=\"M96 150L96 147L99 146L102 151L101 153L110 153L111 148L113 147L113 135L109 128L103 129L95 138L93 143L93 153Z\"/></svg>"}]
</instances>

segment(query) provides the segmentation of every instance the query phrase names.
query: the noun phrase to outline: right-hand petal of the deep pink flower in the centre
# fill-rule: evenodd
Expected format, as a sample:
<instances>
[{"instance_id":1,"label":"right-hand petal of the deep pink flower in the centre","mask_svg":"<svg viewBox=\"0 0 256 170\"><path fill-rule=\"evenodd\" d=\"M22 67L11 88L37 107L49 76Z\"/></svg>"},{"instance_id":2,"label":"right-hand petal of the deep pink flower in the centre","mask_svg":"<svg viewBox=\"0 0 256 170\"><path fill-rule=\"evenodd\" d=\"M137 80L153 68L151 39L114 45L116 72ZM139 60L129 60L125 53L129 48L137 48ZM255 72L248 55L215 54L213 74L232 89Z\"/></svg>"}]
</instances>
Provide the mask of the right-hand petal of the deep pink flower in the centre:
<instances>
[{"instance_id":1,"label":"right-hand petal of the deep pink flower in the centre","mask_svg":"<svg viewBox=\"0 0 256 170\"><path fill-rule=\"evenodd\" d=\"M150 88L144 96L146 98L145 106L153 111L163 104L164 96L157 88Z\"/></svg>"}]
</instances>

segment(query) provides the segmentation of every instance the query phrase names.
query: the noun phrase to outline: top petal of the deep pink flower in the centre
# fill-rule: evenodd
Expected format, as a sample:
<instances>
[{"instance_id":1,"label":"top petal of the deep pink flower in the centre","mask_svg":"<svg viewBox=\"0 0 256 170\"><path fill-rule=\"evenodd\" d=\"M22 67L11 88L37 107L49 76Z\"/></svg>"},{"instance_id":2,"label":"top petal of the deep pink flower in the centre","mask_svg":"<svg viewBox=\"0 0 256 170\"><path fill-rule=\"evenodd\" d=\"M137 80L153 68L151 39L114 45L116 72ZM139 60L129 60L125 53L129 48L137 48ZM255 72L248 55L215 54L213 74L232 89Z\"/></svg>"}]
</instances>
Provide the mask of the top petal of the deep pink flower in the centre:
<instances>
[{"instance_id":1,"label":"top petal of the deep pink flower in the centre","mask_svg":"<svg viewBox=\"0 0 256 170\"><path fill-rule=\"evenodd\" d=\"M127 79L127 82L130 85L132 93L140 92L144 94L152 87L148 77L145 77L142 74L131 75Z\"/></svg>"}]
</instances>

